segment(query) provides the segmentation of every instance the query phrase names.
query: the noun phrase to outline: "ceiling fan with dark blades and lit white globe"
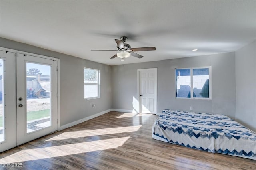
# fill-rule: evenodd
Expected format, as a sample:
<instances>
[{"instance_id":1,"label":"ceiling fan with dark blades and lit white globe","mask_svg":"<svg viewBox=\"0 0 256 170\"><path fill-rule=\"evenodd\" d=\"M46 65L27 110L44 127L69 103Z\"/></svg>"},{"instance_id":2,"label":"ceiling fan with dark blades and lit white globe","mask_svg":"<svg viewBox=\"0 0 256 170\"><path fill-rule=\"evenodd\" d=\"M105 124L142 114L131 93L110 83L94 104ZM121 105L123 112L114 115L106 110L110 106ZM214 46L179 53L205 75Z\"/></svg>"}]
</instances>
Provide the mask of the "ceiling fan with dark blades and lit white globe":
<instances>
[{"instance_id":1,"label":"ceiling fan with dark blades and lit white globe","mask_svg":"<svg viewBox=\"0 0 256 170\"><path fill-rule=\"evenodd\" d=\"M137 58L142 58L143 56L137 53L134 53L134 51L153 51L156 50L156 47L141 47L141 48L131 48L131 46L127 43L124 43L127 40L126 36L120 37L120 40L115 39L117 43L117 49L116 50L104 50L104 49L91 49L91 51L119 51L116 53L112 58L119 57L124 61L127 57L130 57L131 55Z\"/></svg>"}]
</instances>

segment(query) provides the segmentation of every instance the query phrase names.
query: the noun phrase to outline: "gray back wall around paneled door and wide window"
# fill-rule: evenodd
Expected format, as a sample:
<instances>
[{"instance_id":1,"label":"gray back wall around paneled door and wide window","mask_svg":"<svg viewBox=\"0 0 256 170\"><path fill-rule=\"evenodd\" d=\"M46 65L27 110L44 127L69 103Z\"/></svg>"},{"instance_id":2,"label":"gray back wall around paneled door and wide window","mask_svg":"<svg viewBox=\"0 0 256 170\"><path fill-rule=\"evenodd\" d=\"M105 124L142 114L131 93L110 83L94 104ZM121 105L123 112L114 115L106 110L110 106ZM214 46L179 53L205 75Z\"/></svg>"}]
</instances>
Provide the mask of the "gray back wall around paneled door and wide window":
<instances>
[{"instance_id":1,"label":"gray back wall around paneled door and wide window","mask_svg":"<svg viewBox=\"0 0 256 170\"><path fill-rule=\"evenodd\" d=\"M212 66L212 100L176 99L175 68ZM158 68L158 112L178 109L224 114L235 119L235 53L112 66L112 108L133 110L137 69Z\"/></svg>"}]
</instances>

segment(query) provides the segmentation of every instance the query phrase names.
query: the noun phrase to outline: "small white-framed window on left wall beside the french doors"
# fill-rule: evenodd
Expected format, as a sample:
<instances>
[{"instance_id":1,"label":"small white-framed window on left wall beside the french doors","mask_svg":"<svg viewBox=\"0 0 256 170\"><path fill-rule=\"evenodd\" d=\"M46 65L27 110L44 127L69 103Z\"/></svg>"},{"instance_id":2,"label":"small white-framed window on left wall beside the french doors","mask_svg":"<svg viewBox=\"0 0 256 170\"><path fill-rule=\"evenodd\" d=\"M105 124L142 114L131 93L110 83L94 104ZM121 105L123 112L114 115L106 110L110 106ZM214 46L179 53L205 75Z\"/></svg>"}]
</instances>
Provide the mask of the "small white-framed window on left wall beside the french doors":
<instances>
[{"instance_id":1,"label":"small white-framed window on left wall beside the french doors","mask_svg":"<svg viewBox=\"0 0 256 170\"><path fill-rule=\"evenodd\" d=\"M84 68L84 99L100 97L100 70Z\"/></svg>"}]
</instances>

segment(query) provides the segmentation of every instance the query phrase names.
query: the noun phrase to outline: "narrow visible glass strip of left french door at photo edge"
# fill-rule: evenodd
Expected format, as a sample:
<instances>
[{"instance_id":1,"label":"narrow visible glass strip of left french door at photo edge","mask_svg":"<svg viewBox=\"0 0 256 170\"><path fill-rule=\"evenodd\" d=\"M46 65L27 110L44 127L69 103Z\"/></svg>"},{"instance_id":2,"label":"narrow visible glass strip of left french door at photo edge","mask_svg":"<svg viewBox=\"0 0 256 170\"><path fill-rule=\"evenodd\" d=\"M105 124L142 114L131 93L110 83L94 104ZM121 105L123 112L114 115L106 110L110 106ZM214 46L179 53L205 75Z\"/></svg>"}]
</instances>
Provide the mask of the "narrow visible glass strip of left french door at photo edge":
<instances>
[{"instance_id":1,"label":"narrow visible glass strip of left french door at photo edge","mask_svg":"<svg viewBox=\"0 0 256 170\"><path fill-rule=\"evenodd\" d=\"M0 142L4 141L4 61L0 59Z\"/></svg>"}]
</instances>

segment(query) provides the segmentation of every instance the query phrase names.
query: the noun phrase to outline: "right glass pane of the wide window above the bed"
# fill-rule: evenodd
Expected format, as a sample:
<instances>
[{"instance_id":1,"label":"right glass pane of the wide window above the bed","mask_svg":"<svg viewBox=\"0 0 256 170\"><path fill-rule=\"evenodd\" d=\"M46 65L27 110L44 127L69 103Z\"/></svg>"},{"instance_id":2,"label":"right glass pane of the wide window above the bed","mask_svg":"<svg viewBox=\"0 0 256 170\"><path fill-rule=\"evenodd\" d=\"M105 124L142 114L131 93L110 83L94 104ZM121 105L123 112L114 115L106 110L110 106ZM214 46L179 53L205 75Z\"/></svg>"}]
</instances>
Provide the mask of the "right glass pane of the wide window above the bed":
<instances>
[{"instance_id":1,"label":"right glass pane of the wide window above the bed","mask_svg":"<svg viewBox=\"0 0 256 170\"><path fill-rule=\"evenodd\" d=\"M209 98L209 69L193 69L194 97Z\"/></svg>"}]
</instances>

